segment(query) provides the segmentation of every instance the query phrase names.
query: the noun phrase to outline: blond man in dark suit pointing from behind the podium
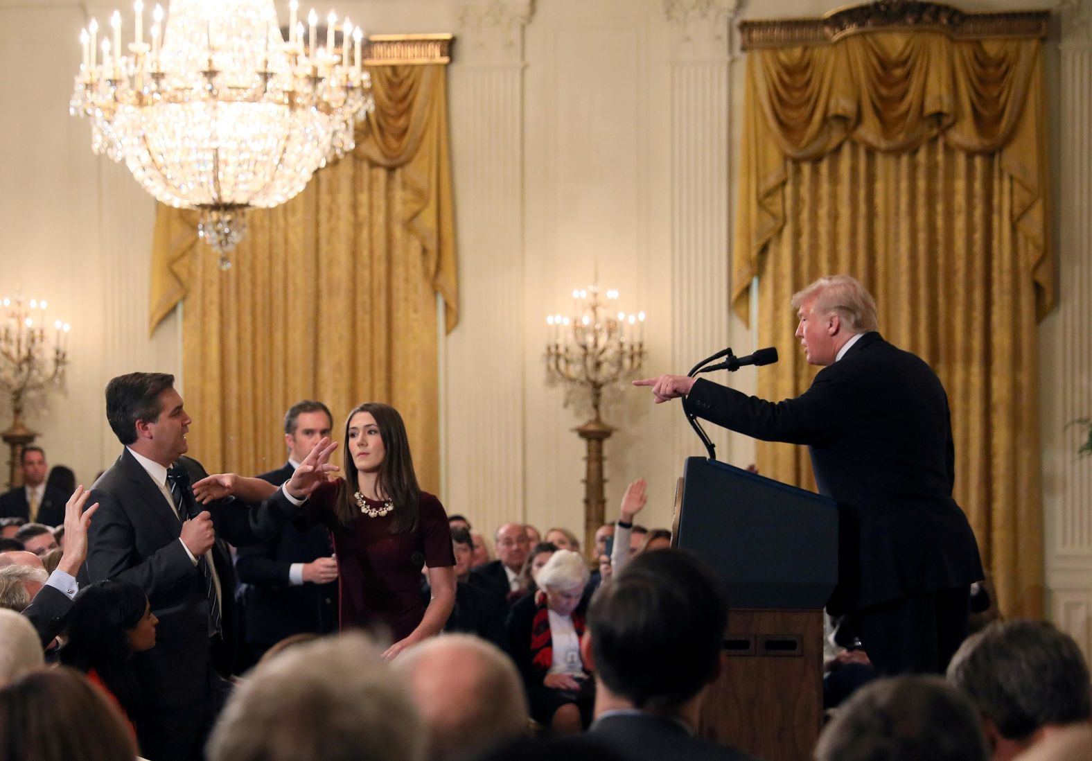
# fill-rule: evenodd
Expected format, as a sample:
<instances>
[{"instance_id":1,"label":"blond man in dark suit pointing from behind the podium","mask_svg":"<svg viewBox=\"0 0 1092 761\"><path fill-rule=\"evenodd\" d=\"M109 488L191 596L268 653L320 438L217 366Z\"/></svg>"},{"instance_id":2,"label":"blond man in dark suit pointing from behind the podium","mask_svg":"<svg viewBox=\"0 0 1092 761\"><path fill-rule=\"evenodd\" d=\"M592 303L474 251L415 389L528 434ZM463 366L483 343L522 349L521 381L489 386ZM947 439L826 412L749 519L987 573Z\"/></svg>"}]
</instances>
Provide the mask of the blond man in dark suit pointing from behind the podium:
<instances>
[{"instance_id":1,"label":"blond man in dark suit pointing from behind the podium","mask_svg":"<svg viewBox=\"0 0 1092 761\"><path fill-rule=\"evenodd\" d=\"M763 441L806 444L819 492L839 502L839 581L827 609L847 615L879 674L942 674L966 637L978 545L952 499L948 396L922 359L875 330L873 297L848 275L793 297L796 337L822 369L806 392L769 402L704 379L660 376L656 403Z\"/></svg>"}]
</instances>

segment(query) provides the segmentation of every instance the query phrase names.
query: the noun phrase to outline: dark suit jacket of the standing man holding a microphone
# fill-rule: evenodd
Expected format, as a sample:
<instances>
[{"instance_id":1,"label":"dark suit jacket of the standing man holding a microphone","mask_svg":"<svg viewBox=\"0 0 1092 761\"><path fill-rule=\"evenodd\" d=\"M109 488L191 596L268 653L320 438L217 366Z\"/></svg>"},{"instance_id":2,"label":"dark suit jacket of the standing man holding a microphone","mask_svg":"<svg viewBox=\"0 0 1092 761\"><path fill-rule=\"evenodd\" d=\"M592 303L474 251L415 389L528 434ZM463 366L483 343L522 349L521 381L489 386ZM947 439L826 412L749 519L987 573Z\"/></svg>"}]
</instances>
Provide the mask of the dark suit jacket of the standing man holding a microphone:
<instances>
[{"instance_id":1,"label":"dark suit jacket of the standing man holding a microphone","mask_svg":"<svg viewBox=\"0 0 1092 761\"><path fill-rule=\"evenodd\" d=\"M200 463L189 457L181 457L178 464L190 472L192 480L204 474ZM204 703L215 687L210 665L209 601L201 571L178 540L181 523L128 449L95 481L90 501L98 502L99 508L88 531L88 579L136 584L159 619L155 647L133 657L144 701L153 708ZM219 539L236 545L268 539L296 508L277 491L250 509L235 500L202 509L210 511L216 530L213 555L221 572L224 631L228 632L230 561L223 557Z\"/></svg>"}]
</instances>

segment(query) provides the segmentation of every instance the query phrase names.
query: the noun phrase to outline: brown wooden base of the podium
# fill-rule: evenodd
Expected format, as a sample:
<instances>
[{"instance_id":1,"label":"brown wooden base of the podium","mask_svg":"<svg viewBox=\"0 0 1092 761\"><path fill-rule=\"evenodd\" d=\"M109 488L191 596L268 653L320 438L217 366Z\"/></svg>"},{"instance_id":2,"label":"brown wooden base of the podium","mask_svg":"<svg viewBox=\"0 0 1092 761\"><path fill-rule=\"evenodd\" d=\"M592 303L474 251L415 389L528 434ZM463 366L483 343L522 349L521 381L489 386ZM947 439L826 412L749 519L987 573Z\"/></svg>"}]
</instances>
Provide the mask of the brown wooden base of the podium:
<instances>
[{"instance_id":1,"label":"brown wooden base of the podium","mask_svg":"<svg viewBox=\"0 0 1092 761\"><path fill-rule=\"evenodd\" d=\"M731 609L699 734L765 761L810 759L822 722L822 615Z\"/></svg>"}]
</instances>

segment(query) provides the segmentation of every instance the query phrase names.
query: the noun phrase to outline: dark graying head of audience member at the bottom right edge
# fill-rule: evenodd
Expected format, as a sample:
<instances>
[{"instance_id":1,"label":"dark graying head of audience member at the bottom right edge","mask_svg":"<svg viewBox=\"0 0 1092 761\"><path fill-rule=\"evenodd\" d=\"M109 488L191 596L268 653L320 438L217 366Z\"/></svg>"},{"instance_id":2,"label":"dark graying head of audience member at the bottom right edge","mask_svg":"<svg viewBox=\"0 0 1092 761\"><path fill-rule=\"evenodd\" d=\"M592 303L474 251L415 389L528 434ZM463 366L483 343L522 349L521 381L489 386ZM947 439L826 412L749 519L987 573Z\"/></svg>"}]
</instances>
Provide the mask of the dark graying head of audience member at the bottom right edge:
<instances>
[{"instance_id":1,"label":"dark graying head of audience member at the bottom right edge","mask_svg":"<svg viewBox=\"0 0 1092 761\"><path fill-rule=\"evenodd\" d=\"M997 621L968 638L948 680L978 709L994 761L1092 718L1089 666L1073 638L1046 621Z\"/></svg>"}]
</instances>

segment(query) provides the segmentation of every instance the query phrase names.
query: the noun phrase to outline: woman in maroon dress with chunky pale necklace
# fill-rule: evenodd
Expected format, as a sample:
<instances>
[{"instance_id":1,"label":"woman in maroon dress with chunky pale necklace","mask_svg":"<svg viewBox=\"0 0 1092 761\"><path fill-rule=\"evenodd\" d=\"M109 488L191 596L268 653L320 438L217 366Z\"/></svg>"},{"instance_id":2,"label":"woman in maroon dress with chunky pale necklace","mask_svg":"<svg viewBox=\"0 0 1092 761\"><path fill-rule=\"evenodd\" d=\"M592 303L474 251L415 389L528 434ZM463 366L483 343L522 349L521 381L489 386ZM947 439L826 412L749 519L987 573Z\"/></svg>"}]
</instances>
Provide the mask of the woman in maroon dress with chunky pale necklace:
<instances>
[{"instance_id":1,"label":"woman in maroon dress with chunky pale necklace","mask_svg":"<svg viewBox=\"0 0 1092 761\"><path fill-rule=\"evenodd\" d=\"M323 484L306 504L328 526L337 558L342 629L382 621L394 638L384 657L439 634L455 602L448 515L422 491L399 412L361 404L345 421L345 478ZM425 566L432 591L420 598Z\"/></svg>"}]
</instances>

